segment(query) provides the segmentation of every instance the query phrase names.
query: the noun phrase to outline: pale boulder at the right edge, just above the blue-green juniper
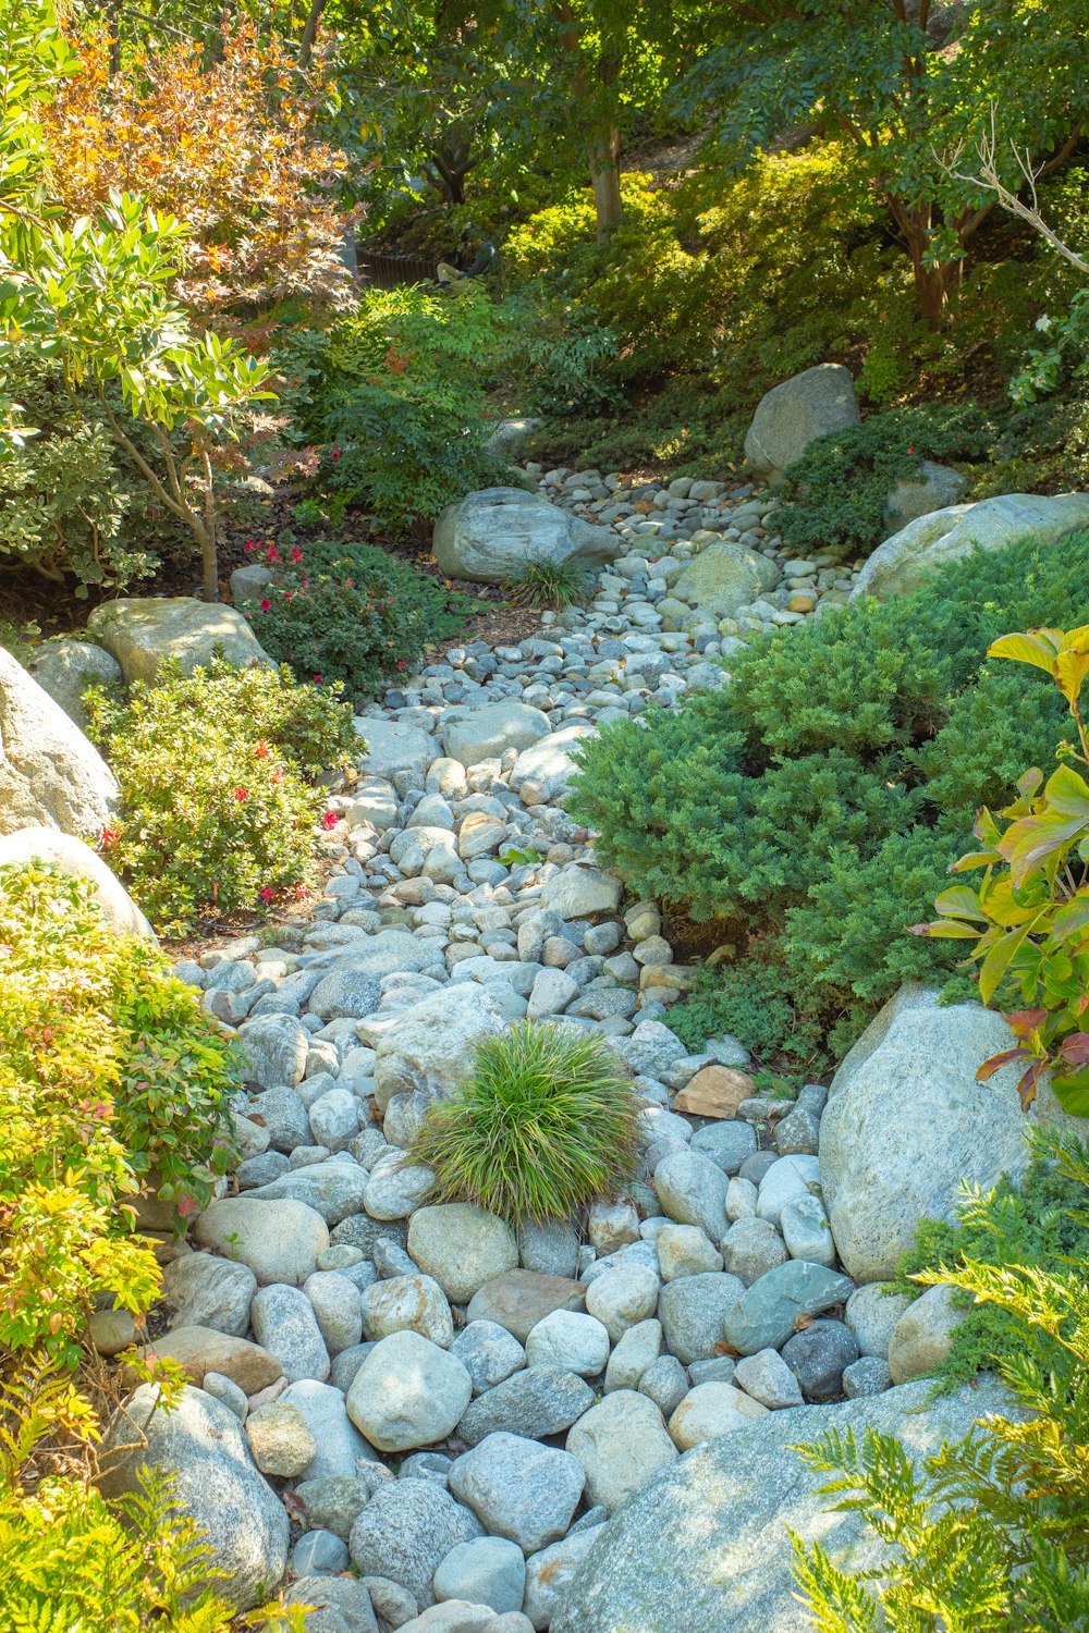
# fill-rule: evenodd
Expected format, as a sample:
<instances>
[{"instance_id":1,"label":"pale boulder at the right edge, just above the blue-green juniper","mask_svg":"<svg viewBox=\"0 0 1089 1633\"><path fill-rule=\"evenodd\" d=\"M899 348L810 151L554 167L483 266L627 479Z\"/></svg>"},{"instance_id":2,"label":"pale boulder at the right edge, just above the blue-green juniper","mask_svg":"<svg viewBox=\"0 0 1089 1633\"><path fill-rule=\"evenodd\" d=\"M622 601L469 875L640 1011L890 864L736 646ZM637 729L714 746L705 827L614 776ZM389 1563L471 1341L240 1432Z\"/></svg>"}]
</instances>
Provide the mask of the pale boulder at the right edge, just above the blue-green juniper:
<instances>
[{"instance_id":1,"label":"pale boulder at the right edge, just above the blue-green juniper","mask_svg":"<svg viewBox=\"0 0 1089 1633\"><path fill-rule=\"evenodd\" d=\"M852 598L906 594L973 549L1001 550L1022 539L1058 544L1089 529L1089 493L1002 493L978 505L950 505L908 523L873 550Z\"/></svg>"}]
</instances>

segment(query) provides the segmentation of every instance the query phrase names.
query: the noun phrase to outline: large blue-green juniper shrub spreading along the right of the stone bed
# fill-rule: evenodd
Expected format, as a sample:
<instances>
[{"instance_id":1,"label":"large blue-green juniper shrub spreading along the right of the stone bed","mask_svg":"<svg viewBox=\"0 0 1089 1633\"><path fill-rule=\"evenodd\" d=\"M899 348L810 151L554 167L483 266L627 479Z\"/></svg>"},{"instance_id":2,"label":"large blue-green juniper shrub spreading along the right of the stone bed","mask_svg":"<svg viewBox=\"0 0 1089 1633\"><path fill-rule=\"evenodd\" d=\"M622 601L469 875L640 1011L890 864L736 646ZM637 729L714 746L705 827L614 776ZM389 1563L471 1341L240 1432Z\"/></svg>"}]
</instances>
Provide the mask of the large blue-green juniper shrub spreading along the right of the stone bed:
<instances>
[{"instance_id":1,"label":"large blue-green juniper shrub spreading along the right of the stone bed","mask_svg":"<svg viewBox=\"0 0 1089 1633\"><path fill-rule=\"evenodd\" d=\"M1082 622L1087 572L1089 534L976 555L887 606L756 640L725 691L622 720L580 751L570 803L604 859L735 949L687 1017L674 1011L682 1035L745 1035L748 1012L767 1052L776 999L789 1024L774 1042L793 1032L811 1058L820 1022L838 1027L836 1053L903 980L952 968L949 942L908 926L931 916L978 807L1050 763L1068 723L1029 671L988 666L986 648ZM745 970L759 1004L745 1004Z\"/></svg>"}]
</instances>

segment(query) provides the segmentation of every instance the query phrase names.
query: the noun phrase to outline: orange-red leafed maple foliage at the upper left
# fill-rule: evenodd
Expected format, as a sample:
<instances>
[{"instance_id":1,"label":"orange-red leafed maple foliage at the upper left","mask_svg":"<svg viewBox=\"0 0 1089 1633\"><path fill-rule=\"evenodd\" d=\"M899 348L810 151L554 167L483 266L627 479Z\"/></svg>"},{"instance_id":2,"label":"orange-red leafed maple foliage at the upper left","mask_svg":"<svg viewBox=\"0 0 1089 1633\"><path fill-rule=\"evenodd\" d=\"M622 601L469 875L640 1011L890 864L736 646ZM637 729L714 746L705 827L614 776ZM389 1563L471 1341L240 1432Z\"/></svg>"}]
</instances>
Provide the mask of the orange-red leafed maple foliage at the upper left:
<instances>
[{"instance_id":1,"label":"orange-red leafed maple foliage at the upper left","mask_svg":"<svg viewBox=\"0 0 1089 1633\"><path fill-rule=\"evenodd\" d=\"M204 317L286 296L346 304L344 224L330 201L343 154L313 140L320 69L304 85L276 38L225 33L209 64L199 44L126 54L80 44L80 72L42 119L54 185L70 216L95 216L111 189L140 193L188 222L178 296Z\"/></svg>"}]
</instances>

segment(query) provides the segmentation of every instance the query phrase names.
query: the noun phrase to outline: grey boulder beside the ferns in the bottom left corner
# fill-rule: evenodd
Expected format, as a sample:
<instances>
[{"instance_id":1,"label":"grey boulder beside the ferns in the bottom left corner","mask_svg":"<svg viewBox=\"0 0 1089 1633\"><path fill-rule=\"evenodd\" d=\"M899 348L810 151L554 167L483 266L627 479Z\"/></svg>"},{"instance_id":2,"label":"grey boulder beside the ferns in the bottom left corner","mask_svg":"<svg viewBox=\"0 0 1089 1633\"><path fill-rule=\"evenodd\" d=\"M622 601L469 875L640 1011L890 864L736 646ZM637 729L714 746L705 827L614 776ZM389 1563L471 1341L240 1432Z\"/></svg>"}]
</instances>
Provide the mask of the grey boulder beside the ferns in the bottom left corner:
<instances>
[{"instance_id":1,"label":"grey boulder beside the ferns in the bottom left corner","mask_svg":"<svg viewBox=\"0 0 1089 1633\"><path fill-rule=\"evenodd\" d=\"M176 1408L158 1408L142 1383L118 1413L103 1447L103 1493L136 1493L140 1475L175 1476L173 1496L207 1533L216 1591L238 1610L264 1604L287 1564L287 1511L258 1471L245 1429L229 1406L186 1386Z\"/></svg>"}]
</instances>

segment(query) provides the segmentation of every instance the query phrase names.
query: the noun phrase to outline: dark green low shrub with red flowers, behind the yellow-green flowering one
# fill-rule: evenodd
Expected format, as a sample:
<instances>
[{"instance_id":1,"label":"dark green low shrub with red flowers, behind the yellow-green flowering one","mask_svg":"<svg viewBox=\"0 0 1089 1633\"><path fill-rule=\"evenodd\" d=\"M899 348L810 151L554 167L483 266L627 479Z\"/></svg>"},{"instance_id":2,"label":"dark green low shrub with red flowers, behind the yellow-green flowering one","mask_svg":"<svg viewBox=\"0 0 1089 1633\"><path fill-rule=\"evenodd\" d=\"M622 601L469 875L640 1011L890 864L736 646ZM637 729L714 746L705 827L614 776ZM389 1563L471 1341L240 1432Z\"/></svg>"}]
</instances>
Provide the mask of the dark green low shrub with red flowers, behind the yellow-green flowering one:
<instances>
[{"instance_id":1,"label":"dark green low shrub with red flowers, behind the yellow-green flowering one","mask_svg":"<svg viewBox=\"0 0 1089 1633\"><path fill-rule=\"evenodd\" d=\"M407 670L477 606L372 545L309 544L286 560L276 545L271 552L276 581L247 604L256 639L299 679L343 681L353 696Z\"/></svg>"}]
</instances>

